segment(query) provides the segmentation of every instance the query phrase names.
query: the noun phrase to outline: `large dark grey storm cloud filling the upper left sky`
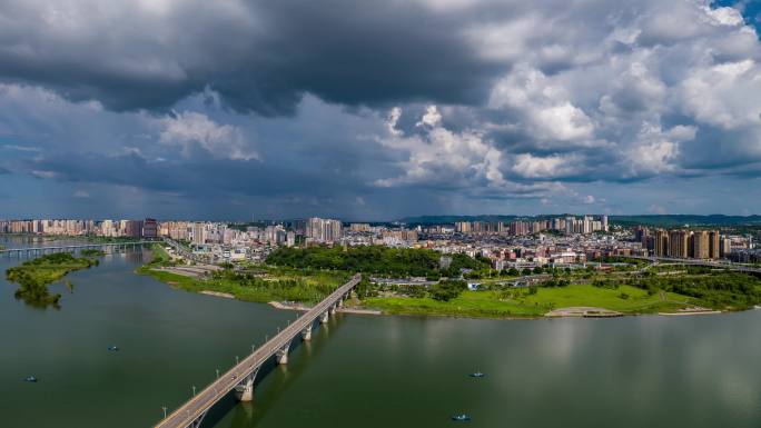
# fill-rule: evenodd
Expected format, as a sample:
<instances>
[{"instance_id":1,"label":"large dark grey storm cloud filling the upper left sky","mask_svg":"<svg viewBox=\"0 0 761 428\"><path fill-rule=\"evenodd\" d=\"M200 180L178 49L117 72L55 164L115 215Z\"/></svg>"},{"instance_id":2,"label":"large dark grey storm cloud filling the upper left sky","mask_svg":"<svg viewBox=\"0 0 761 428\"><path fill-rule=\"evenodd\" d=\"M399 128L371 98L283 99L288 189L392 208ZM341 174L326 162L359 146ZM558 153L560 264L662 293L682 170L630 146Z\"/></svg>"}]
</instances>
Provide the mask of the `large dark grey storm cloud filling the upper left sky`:
<instances>
[{"instance_id":1,"label":"large dark grey storm cloud filling the upper left sky","mask_svg":"<svg viewBox=\"0 0 761 428\"><path fill-rule=\"evenodd\" d=\"M293 113L305 92L345 104L476 103L504 70L468 48L457 17L415 3L167 4L58 16L4 2L0 74L117 110L162 109L210 88L268 116Z\"/></svg>"}]
</instances>

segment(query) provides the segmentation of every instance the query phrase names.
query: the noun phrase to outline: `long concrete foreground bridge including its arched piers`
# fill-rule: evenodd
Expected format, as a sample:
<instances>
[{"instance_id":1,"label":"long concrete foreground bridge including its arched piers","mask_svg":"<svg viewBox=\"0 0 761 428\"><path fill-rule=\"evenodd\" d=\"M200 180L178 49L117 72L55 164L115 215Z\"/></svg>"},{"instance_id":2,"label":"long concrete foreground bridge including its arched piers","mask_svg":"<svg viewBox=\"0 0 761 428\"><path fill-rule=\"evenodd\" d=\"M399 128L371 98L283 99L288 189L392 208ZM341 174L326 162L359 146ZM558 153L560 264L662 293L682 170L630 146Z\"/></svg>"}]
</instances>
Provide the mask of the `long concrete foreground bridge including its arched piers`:
<instances>
[{"instance_id":1,"label":"long concrete foreground bridge including its arched piers","mask_svg":"<svg viewBox=\"0 0 761 428\"><path fill-rule=\"evenodd\" d=\"M315 322L318 320L320 324L327 322L328 317L343 306L343 301L360 279L359 273L355 275L352 280L338 287L325 300L309 309L295 322L289 324L277 336L172 411L157 424L156 428L198 428L211 406L230 391L235 391L240 401L253 400L254 380L265 361L275 357L277 364L287 364L291 341L299 335L304 340L312 340L312 328Z\"/></svg>"}]
</instances>

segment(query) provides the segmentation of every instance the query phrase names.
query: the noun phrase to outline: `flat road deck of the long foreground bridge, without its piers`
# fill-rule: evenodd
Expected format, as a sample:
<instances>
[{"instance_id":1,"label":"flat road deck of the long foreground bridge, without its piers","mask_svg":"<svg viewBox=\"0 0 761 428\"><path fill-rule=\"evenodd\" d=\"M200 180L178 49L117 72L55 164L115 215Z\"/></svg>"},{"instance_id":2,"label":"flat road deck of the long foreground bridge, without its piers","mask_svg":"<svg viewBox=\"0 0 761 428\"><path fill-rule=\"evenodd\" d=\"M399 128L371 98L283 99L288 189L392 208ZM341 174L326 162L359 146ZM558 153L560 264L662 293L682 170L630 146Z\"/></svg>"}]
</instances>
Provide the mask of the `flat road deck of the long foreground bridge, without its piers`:
<instances>
[{"instance_id":1,"label":"flat road deck of the long foreground bridge, without its piers","mask_svg":"<svg viewBox=\"0 0 761 428\"><path fill-rule=\"evenodd\" d=\"M271 358L278 350L289 346L290 341L304 329L310 327L317 317L328 311L333 305L336 305L339 299L342 299L357 283L359 283L360 278L362 277L359 275L355 275L350 281L337 288L323 301L299 317L295 322L291 322L277 336L273 337L269 341L260 346L237 366L225 372L209 386L204 388L204 390L175 410L166 419L161 420L158 425L156 425L156 427L186 428L194 426L194 422L199 418L202 418L205 412L211 406L214 406L214 404L230 392L247 376L253 374L255 370L258 370L259 367L261 367L261 365Z\"/></svg>"}]
</instances>

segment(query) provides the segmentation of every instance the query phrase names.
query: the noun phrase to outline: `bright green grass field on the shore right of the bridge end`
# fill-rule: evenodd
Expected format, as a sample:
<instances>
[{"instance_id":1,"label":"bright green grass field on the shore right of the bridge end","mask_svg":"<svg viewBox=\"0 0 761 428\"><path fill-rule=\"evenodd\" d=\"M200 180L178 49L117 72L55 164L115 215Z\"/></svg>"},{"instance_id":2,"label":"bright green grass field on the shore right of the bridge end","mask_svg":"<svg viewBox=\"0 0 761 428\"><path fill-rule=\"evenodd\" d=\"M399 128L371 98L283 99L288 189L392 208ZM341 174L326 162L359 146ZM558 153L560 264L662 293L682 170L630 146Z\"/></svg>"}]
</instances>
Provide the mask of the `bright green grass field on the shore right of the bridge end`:
<instances>
[{"instance_id":1,"label":"bright green grass field on the shore right of the bridge end","mask_svg":"<svg viewBox=\"0 0 761 428\"><path fill-rule=\"evenodd\" d=\"M629 297L622 298L625 293ZM432 313L463 317L538 317L565 307L590 306L624 313L672 311L689 306L689 298L675 293L648 296L630 286L617 289L587 285L561 288L538 288L536 295L501 298L500 291L465 291L451 301L431 298L375 297L363 300L363 306L389 313Z\"/></svg>"}]
</instances>

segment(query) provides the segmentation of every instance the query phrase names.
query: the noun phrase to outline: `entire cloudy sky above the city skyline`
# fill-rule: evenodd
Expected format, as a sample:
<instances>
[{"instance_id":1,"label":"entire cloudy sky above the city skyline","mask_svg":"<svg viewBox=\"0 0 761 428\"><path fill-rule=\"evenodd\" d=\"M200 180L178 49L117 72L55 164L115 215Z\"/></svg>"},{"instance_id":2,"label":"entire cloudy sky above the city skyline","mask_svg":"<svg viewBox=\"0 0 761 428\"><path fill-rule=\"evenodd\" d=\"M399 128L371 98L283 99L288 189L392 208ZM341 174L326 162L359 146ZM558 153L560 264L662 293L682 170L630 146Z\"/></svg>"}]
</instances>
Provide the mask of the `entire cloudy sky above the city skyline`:
<instances>
[{"instance_id":1,"label":"entire cloudy sky above the city skyline","mask_svg":"<svg viewBox=\"0 0 761 428\"><path fill-rule=\"evenodd\" d=\"M761 213L761 0L4 0L0 218Z\"/></svg>"}]
</instances>

